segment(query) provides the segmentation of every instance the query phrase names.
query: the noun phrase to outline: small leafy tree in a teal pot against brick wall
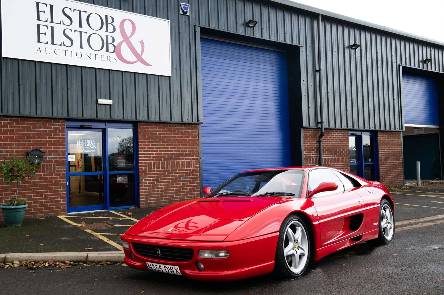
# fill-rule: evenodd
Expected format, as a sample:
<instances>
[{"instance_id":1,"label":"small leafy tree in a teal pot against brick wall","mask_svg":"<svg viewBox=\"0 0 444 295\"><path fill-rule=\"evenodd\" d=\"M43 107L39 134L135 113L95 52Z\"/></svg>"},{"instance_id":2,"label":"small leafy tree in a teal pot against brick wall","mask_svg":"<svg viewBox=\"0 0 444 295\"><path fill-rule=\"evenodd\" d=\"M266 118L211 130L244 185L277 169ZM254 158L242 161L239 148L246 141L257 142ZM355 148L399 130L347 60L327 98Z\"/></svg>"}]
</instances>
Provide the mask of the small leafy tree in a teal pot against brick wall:
<instances>
[{"instance_id":1,"label":"small leafy tree in a teal pot against brick wall","mask_svg":"<svg viewBox=\"0 0 444 295\"><path fill-rule=\"evenodd\" d=\"M19 159L14 157L1 164L3 179L9 182L16 182L16 195L9 200L9 204L0 205L6 226L20 226L25 217L28 207L26 199L17 198L19 194L20 181L25 178L34 177L37 171L37 163L31 164L29 157Z\"/></svg>"}]
</instances>

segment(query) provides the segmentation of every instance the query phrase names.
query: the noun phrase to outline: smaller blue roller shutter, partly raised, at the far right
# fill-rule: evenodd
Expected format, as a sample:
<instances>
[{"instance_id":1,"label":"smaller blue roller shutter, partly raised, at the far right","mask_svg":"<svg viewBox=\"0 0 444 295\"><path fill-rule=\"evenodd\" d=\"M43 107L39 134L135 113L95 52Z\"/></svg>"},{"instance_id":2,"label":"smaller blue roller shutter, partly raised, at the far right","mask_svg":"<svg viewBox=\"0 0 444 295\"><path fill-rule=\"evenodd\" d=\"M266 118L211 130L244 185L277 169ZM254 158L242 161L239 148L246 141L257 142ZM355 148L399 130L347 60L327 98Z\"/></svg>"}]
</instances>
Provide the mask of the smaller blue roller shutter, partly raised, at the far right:
<instances>
[{"instance_id":1,"label":"smaller blue roller shutter, partly raised, at the far right","mask_svg":"<svg viewBox=\"0 0 444 295\"><path fill-rule=\"evenodd\" d=\"M405 124L440 125L436 79L403 74L402 94Z\"/></svg>"}]
</instances>

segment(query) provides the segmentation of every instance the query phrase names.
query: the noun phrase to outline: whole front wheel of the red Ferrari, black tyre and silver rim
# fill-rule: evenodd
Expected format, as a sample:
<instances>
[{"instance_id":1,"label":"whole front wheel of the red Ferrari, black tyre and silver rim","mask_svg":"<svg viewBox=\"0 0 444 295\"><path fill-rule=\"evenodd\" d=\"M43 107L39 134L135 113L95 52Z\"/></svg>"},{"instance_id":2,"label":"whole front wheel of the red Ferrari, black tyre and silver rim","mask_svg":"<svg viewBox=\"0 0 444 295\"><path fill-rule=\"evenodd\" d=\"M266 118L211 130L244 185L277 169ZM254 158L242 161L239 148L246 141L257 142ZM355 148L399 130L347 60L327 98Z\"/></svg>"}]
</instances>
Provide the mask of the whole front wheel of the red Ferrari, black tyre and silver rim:
<instances>
[{"instance_id":1,"label":"whole front wheel of the red Ferrari, black tyre and silver rim","mask_svg":"<svg viewBox=\"0 0 444 295\"><path fill-rule=\"evenodd\" d=\"M273 273L279 279L304 275L310 260L310 237L301 217L289 215L282 222L274 257Z\"/></svg>"}]
</instances>

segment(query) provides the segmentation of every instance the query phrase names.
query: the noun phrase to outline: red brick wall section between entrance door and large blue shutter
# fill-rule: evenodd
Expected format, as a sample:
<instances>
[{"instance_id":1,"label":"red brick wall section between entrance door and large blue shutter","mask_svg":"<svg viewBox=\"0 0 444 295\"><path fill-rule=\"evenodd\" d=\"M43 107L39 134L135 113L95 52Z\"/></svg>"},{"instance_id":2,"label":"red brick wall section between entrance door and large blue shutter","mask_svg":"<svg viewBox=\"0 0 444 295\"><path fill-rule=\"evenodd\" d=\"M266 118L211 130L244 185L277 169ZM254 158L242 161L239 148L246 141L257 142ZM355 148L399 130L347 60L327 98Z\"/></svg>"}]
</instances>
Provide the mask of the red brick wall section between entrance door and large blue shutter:
<instances>
[{"instance_id":1,"label":"red brick wall section between entrance door and large blue shutter","mask_svg":"<svg viewBox=\"0 0 444 295\"><path fill-rule=\"evenodd\" d=\"M139 123L140 206L200 195L198 125Z\"/></svg>"}]
</instances>

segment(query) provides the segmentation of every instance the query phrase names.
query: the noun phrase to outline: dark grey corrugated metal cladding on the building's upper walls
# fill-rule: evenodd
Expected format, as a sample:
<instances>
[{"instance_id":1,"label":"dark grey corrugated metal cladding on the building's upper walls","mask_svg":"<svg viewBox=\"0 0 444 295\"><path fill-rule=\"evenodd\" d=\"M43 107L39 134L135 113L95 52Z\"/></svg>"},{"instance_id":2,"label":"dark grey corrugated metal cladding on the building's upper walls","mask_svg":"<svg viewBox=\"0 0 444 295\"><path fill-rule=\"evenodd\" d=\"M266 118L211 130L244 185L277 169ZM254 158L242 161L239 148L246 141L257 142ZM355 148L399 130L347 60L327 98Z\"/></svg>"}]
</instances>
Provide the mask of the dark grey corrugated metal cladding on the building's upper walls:
<instances>
[{"instance_id":1,"label":"dark grey corrugated metal cladding on the building's upper walls","mask_svg":"<svg viewBox=\"0 0 444 295\"><path fill-rule=\"evenodd\" d=\"M317 16L250 0L84 0L171 20L171 77L2 58L2 114L201 122L194 25L299 44L302 123L317 127ZM291 8L293 9L293 8ZM248 19L259 21L254 28ZM325 126L402 130L398 65L443 72L443 47L322 20ZM361 44L357 50L349 46ZM294 50L299 50L295 47ZM432 62L425 64L425 57ZM96 105L111 98L115 104ZM297 97L299 98L299 97Z\"/></svg>"}]
</instances>

